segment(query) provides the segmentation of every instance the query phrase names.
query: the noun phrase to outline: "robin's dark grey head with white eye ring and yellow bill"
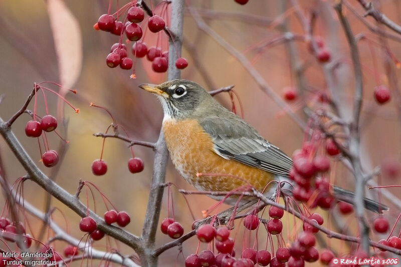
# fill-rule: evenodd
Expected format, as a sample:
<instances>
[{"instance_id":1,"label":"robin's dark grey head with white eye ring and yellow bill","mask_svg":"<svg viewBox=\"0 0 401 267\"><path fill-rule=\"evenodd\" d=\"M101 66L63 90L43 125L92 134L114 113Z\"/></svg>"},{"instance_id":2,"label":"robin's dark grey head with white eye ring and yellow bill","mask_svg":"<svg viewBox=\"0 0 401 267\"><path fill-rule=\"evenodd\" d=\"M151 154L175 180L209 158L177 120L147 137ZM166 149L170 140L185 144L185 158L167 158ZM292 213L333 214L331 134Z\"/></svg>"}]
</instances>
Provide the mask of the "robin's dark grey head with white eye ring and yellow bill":
<instances>
[{"instance_id":1,"label":"robin's dark grey head with white eye ring and yellow bill","mask_svg":"<svg viewBox=\"0 0 401 267\"><path fill-rule=\"evenodd\" d=\"M160 100L165 116L186 118L205 100L209 93L200 85L188 80L171 80L159 85L141 84L143 90L153 93Z\"/></svg>"}]
</instances>

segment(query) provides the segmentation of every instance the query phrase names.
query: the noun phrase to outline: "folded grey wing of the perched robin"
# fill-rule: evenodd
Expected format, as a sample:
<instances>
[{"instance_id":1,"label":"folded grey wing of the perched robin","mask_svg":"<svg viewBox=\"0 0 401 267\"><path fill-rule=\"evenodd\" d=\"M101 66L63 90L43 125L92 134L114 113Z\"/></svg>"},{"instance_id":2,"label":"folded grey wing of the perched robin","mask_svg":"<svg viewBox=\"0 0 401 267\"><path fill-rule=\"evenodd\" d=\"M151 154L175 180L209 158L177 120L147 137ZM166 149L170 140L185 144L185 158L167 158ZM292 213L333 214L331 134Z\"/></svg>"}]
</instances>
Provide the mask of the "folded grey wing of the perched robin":
<instances>
[{"instance_id":1,"label":"folded grey wing of the perched robin","mask_svg":"<svg viewBox=\"0 0 401 267\"><path fill-rule=\"evenodd\" d=\"M293 166L292 160L235 114L224 118L208 116L200 124L212 137L215 152L220 156L277 175L288 176Z\"/></svg>"}]
</instances>

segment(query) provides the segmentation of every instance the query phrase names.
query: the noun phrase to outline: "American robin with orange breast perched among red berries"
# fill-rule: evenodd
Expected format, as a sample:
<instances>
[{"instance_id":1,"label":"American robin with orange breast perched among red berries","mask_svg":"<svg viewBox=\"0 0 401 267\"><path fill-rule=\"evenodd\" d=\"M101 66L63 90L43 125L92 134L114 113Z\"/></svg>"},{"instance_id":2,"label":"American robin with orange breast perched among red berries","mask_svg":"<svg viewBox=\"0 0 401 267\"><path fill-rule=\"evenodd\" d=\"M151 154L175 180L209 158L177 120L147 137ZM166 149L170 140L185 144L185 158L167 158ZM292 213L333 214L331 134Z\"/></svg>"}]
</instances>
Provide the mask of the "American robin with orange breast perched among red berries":
<instances>
[{"instance_id":1,"label":"American robin with orange breast perched among red berries","mask_svg":"<svg viewBox=\"0 0 401 267\"><path fill-rule=\"evenodd\" d=\"M162 131L172 163L197 190L231 192L251 186L265 192L269 182L288 180L292 159L202 86L176 79L139 87L160 101ZM337 199L353 203L353 192L332 188ZM236 198L227 197L225 202L234 205ZM368 198L364 202L365 208L378 213L387 209Z\"/></svg>"}]
</instances>

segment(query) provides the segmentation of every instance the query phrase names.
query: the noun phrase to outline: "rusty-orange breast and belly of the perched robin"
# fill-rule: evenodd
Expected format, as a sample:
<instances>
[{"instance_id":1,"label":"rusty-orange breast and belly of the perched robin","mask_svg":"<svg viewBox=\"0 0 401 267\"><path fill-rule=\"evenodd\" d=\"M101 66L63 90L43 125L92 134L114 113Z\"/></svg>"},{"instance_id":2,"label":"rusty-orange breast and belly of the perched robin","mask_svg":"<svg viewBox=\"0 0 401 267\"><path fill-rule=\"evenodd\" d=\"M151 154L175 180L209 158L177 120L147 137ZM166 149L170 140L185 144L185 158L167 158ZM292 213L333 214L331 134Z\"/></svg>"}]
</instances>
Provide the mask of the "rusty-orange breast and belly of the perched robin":
<instances>
[{"instance_id":1,"label":"rusty-orange breast and belly of the perched robin","mask_svg":"<svg viewBox=\"0 0 401 267\"><path fill-rule=\"evenodd\" d=\"M163 132L175 168L197 190L231 191L242 185L252 185L261 191L274 177L264 170L216 154L212 139L194 120L166 119ZM196 173L223 175L197 177Z\"/></svg>"}]
</instances>

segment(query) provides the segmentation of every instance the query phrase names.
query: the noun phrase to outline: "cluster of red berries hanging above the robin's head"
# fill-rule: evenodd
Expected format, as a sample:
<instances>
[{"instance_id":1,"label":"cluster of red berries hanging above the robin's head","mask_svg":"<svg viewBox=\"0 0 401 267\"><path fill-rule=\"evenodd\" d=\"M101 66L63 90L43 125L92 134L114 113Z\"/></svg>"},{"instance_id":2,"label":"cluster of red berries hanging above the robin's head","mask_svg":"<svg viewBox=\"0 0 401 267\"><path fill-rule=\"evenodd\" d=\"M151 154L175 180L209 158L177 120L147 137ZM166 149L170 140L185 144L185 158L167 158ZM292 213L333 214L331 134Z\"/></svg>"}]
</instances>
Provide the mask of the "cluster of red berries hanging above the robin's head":
<instances>
[{"instance_id":1,"label":"cluster of red berries hanging above the robin's head","mask_svg":"<svg viewBox=\"0 0 401 267\"><path fill-rule=\"evenodd\" d=\"M169 2L164 1L160 3L162 7L162 16L166 17L167 5ZM162 73L167 71L168 67L168 52L161 52L161 49L156 46L148 48L146 43L140 41L142 36L144 36L143 20L145 18L144 11L137 6L132 6L133 3L129 3L122 8L120 8L116 13L117 19L114 19L113 15L103 14L99 17L98 22L94 25L96 30L102 30L105 32L110 32L113 35L120 36L118 43L114 44L110 49L110 54L106 57L106 64L110 68L115 68L120 66L121 69L130 70L135 63L135 58L143 58L146 56L147 60L152 62L152 69L154 72ZM119 21L121 14L124 14L124 19ZM142 23L142 26L140 25ZM166 23L162 17L153 14L150 16L147 22L147 29L151 33L159 33L162 30L166 30ZM145 30L146 31L146 30ZM127 38L126 43L130 41L134 42L132 45L132 55L134 56L134 61L128 57L127 47L122 44L123 35ZM160 38L160 37L159 37ZM158 38L158 39L159 39ZM134 64L135 65L135 64ZM177 69L184 69L188 66L188 62L184 58L178 58L175 62ZM135 67L133 74L131 76L135 78Z\"/></svg>"}]
</instances>

